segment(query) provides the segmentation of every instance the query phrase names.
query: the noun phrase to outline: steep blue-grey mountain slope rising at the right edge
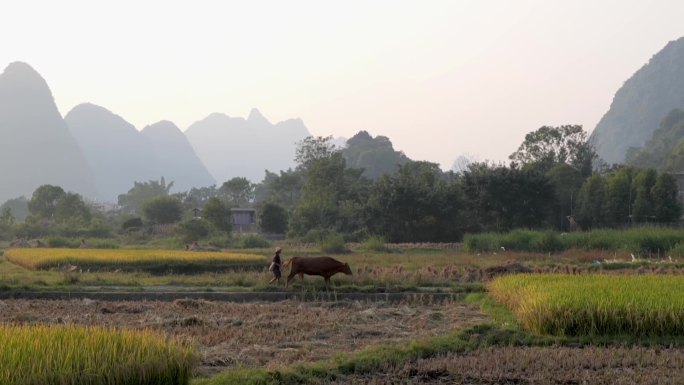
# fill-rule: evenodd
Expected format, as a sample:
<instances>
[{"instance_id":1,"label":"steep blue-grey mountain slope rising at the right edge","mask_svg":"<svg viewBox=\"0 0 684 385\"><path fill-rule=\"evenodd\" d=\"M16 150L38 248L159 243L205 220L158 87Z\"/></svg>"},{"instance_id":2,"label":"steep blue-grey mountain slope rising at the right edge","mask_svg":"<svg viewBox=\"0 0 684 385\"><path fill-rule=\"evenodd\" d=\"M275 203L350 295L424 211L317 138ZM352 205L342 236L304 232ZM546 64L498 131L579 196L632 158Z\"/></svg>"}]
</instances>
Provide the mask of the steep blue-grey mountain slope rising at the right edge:
<instances>
[{"instance_id":1,"label":"steep blue-grey mountain slope rising at the right edge","mask_svg":"<svg viewBox=\"0 0 684 385\"><path fill-rule=\"evenodd\" d=\"M621 163L675 108L684 108L684 37L669 42L620 87L591 140L604 160Z\"/></svg>"}]
</instances>

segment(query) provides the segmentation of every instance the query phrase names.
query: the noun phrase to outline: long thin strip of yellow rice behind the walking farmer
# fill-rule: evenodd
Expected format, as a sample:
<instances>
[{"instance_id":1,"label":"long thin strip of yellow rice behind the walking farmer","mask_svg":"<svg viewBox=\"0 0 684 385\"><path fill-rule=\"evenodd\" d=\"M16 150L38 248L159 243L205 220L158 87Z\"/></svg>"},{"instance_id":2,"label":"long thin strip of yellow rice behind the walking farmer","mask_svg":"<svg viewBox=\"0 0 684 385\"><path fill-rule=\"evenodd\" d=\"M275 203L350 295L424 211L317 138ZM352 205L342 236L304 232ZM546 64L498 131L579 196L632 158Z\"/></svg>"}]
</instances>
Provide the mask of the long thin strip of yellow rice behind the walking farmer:
<instances>
[{"instance_id":1,"label":"long thin strip of yellow rice behind the walking farmer","mask_svg":"<svg viewBox=\"0 0 684 385\"><path fill-rule=\"evenodd\" d=\"M255 254L160 249L9 249L5 258L33 270L69 265L94 269L178 265L249 268L266 263L266 258Z\"/></svg>"}]
</instances>

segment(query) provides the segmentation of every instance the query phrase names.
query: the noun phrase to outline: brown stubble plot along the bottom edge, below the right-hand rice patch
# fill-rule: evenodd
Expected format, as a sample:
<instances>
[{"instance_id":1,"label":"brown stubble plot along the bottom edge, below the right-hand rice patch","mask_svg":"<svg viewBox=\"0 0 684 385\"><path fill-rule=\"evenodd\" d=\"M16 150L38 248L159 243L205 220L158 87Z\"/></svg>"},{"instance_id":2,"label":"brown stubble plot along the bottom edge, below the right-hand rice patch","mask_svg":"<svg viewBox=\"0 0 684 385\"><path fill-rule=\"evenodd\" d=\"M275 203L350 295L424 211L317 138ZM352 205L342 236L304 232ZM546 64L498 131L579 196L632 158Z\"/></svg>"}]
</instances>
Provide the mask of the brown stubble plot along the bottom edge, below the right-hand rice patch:
<instances>
[{"instance_id":1,"label":"brown stubble plot along the bottom edge, below the right-hand rice patch","mask_svg":"<svg viewBox=\"0 0 684 385\"><path fill-rule=\"evenodd\" d=\"M681 384L684 350L501 347L421 359L332 384Z\"/></svg>"}]
</instances>

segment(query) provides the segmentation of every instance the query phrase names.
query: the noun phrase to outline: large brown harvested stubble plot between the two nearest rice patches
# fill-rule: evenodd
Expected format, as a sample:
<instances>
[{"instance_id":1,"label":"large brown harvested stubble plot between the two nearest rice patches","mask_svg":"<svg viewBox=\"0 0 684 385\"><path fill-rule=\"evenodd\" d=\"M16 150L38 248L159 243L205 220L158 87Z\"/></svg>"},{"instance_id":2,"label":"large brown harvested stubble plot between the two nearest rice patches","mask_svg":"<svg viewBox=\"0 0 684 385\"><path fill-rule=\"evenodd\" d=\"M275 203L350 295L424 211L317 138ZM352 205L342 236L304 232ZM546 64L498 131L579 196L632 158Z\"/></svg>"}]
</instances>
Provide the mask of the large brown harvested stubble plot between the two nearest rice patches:
<instances>
[{"instance_id":1,"label":"large brown harvested stubble plot between the two nearest rice patches","mask_svg":"<svg viewBox=\"0 0 684 385\"><path fill-rule=\"evenodd\" d=\"M477 307L451 302L0 301L0 323L151 328L192 339L201 354L201 374L319 361L369 345L439 335L487 319Z\"/></svg>"}]
</instances>

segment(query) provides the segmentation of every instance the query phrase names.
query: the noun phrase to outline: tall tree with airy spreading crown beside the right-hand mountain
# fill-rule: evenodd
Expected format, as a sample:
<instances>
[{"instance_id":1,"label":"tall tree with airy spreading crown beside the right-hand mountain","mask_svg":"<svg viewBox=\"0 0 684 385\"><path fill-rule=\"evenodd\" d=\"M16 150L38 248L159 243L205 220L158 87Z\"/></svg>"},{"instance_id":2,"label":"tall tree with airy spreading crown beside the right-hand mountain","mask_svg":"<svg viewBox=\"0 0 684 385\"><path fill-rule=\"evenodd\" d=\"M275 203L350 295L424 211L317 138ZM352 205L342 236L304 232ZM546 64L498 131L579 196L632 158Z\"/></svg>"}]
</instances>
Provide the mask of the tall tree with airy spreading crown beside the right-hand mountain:
<instances>
[{"instance_id":1,"label":"tall tree with airy spreading crown beside the right-hand mountain","mask_svg":"<svg viewBox=\"0 0 684 385\"><path fill-rule=\"evenodd\" d=\"M543 126L525 135L525 140L509 158L522 165L534 165L542 172L557 164L575 167L583 176L591 175L596 151L580 125Z\"/></svg>"}]
</instances>

